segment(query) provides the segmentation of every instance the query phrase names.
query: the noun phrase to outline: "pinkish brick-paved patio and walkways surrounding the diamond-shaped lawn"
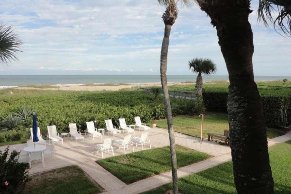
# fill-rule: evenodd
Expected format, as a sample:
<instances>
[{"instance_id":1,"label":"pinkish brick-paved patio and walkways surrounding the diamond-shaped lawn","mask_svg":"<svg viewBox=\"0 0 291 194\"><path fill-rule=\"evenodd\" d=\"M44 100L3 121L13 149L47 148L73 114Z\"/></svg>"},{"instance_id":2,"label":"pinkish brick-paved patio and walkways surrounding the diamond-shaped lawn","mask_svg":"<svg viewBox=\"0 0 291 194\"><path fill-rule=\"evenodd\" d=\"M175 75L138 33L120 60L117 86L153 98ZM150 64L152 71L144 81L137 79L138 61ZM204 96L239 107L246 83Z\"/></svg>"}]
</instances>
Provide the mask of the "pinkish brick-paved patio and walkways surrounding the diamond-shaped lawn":
<instances>
[{"instance_id":1,"label":"pinkish brick-paved patio and walkways surrounding the diamond-shaped lawn","mask_svg":"<svg viewBox=\"0 0 291 194\"><path fill-rule=\"evenodd\" d=\"M143 131L135 131L134 136L140 136ZM123 139L119 135L115 136L113 139ZM112 137L112 135L109 135ZM105 137L108 137L105 135ZM152 148L169 146L169 137L168 132L165 129L161 128L151 128L149 133L149 139L151 142ZM268 146L273 146L275 144L286 142L291 139L291 132L286 135L276 137L274 139L268 140ZM95 138L94 141L92 138L87 138L85 136L84 142L75 142L69 137L68 140L64 138L64 145L55 144L54 158L50 155L45 156L46 167L38 163L32 163L32 169L30 174L45 172L51 169L56 169L69 165L78 165L84 172L92 178L98 185L100 185L104 191L104 194L139 194L156 187L159 187L163 184L170 183L172 181L172 172L165 172L160 175L146 178L129 185L125 184L110 172L106 171L95 161L102 159L101 154L97 153L95 150L95 145L103 143L104 138ZM197 173L208 168L214 167L221 163L231 160L230 147L225 145L219 145L216 142L207 141L204 139L201 143L198 138L192 136L184 135L181 133L175 132L175 141L176 144L192 148L194 150L204 152L212 155L213 157L205 161L197 162L188 166L184 166L178 169L178 178L182 178L193 173ZM47 140L48 141L48 140ZM16 150L23 152L23 147L26 144L14 145ZM1 146L0 150L5 149L6 146ZM48 145L49 147L49 145ZM146 149L149 149L149 146L145 146ZM135 151L141 151L141 146L135 147ZM126 150L126 153L131 153L132 150L129 148ZM118 151L116 147L114 148L114 155L124 155L124 150L121 149ZM104 158L112 157L111 152L105 152Z\"/></svg>"}]
</instances>

